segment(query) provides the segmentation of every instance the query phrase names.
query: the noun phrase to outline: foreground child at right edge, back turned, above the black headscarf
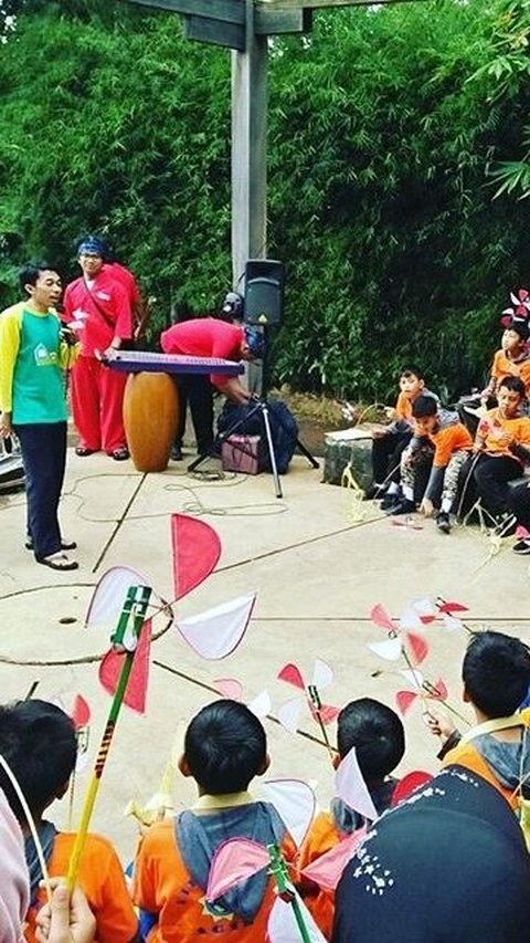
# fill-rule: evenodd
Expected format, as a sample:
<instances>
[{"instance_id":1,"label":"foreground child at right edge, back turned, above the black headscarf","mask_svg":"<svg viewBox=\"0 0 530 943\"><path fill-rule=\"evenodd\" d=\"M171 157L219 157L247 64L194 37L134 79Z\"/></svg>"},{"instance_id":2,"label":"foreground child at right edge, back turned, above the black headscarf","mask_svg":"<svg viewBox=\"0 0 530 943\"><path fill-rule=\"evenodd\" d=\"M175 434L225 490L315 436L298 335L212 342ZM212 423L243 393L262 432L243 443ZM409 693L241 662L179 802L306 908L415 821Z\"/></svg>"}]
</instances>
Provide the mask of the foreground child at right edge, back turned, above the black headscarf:
<instances>
[{"instance_id":1,"label":"foreground child at right edge, back turned, above the black headscarf","mask_svg":"<svg viewBox=\"0 0 530 943\"><path fill-rule=\"evenodd\" d=\"M504 632L471 636L462 666L464 701L477 725L464 735L448 717L430 713L427 725L443 741L444 766L457 763L491 783L517 808L530 798L530 711L517 713L530 685L530 650Z\"/></svg>"}]
</instances>

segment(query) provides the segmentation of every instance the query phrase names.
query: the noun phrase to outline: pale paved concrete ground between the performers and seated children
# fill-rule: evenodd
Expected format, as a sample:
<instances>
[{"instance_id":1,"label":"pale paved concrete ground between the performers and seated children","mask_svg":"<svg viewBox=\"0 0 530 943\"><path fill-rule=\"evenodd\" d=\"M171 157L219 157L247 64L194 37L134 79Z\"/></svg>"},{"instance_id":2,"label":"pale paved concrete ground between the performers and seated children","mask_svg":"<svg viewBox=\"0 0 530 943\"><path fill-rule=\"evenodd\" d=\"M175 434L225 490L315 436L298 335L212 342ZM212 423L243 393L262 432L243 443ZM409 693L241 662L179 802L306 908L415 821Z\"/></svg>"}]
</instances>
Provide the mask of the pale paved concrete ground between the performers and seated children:
<instances>
[{"instance_id":1,"label":"pale paved concrete ground between the performers and seated children","mask_svg":"<svg viewBox=\"0 0 530 943\"><path fill-rule=\"evenodd\" d=\"M275 680L278 669L295 661L310 677L314 659L320 657L335 671L326 691L329 703L340 706L371 695L394 704L395 692L406 683L395 672L372 677L388 663L367 649L368 642L383 638L367 618L378 601L399 616L412 600L441 595L465 603L470 625L508 628L530 640L528 560L511 553L511 541L486 563L489 544L477 530L446 537L421 518L421 530L394 526L372 504L358 505L347 491L321 484L320 473L301 458L295 459L283 485L284 497L277 500L268 475L200 481L173 464L163 474L146 476L130 462L118 464L104 455L80 459L71 451L62 522L64 536L78 542L81 568L70 574L39 566L23 548L24 495L0 499L2 699L24 696L34 681L35 696L84 694L93 709L91 757L109 705L97 681L97 658L108 631L87 630L84 616L93 587L108 567L135 567L171 599L169 515L184 511L218 530L223 554L215 573L179 604L177 619L257 591L246 637L225 661L201 661L174 628L155 642L148 713L124 712L94 817L94 828L108 834L124 856L132 852L136 840L135 825L123 817L126 803L141 803L158 789L177 729L212 699L215 679L240 679L248 699L267 688L275 714L295 693ZM425 675L431 681L442 675L459 706L466 633L448 633L435 625L425 637L431 643ZM272 775L318 780L318 797L326 804L331 769L326 750L304 736L318 737L309 716L296 736L273 720L265 723ZM418 766L434 771L436 744L420 709L411 710L406 731L403 772ZM78 777L76 811L86 782ZM190 782L177 776L176 807L192 795ZM66 821L66 806L63 801L54 809L60 825Z\"/></svg>"}]
</instances>

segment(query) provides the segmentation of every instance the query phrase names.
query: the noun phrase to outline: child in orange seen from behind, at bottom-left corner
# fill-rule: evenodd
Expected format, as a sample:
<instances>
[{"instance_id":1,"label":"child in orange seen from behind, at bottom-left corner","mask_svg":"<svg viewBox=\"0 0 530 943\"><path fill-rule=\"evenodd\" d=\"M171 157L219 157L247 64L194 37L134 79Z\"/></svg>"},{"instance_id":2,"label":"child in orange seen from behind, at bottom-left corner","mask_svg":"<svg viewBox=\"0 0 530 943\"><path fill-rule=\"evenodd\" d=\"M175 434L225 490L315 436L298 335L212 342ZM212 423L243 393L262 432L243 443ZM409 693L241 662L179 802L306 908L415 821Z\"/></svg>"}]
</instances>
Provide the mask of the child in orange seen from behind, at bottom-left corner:
<instances>
[{"instance_id":1,"label":"child in orange seen from behind, at bottom-left corner","mask_svg":"<svg viewBox=\"0 0 530 943\"><path fill-rule=\"evenodd\" d=\"M25 796L41 839L50 877L64 877L75 842L75 834L60 832L43 818L55 799L64 796L75 767L77 740L71 717L55 704L30 700L0 708L0 753L13 771ZM0 787L18 818L25 838L30 872L30 910L25 940L35 940L35 916L45 903L39 889L42 871L24 813L3 769ZM106 838L88 835L81 859L78 881L96 919L99 943L130 943L139 940L138 921L130 901L118 857ZM1 889L0 889L1 890Z\"/></svg>"}]
</instances>

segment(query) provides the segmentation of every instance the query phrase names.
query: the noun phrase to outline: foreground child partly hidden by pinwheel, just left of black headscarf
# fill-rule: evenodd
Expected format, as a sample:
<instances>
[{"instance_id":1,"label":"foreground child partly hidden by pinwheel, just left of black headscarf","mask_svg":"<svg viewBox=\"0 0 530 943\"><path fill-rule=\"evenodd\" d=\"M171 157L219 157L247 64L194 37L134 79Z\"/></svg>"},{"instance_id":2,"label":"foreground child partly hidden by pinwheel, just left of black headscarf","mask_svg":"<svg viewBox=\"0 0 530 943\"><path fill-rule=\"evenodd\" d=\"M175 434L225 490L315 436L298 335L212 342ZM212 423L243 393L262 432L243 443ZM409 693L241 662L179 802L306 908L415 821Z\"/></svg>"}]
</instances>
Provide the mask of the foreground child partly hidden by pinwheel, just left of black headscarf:
<instances>
[{"instance_id":1,"label":"foreground child partly hidden by pinwheel, just left of black headscarf","mask_svg":"<svg viewBox=\"0 0 530 943\"><path fill-rule=\"evenodd\" d=\"M360 698L343 708L337 720L336 767L352 747L377 811L389 808L398 780L390 774L405 752L405 732L398 714L380 701ZM326 855L336 845L367 824L342 799L331 801L329 813L320 813L301 847L299 869ZM301 882L305 903L324 935L329 939L333 921L335 894Z\"/></svg>"}]
</instances>

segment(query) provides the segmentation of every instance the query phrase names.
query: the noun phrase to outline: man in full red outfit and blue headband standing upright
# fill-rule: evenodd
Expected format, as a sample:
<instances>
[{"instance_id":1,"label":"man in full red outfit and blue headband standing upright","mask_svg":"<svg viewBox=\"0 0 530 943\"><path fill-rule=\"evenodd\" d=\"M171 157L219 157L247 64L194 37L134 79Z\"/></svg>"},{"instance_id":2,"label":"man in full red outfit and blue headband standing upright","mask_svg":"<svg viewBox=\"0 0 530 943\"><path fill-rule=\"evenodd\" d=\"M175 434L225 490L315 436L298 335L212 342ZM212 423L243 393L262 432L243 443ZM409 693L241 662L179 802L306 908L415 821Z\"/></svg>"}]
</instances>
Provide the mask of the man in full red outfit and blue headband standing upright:
<instances>
[{"instance_id":1,"label":"man in full red outfit and blue headband standing upright","mask_svg":"<svg viewBox=\"0 0 530 943\"><path fill-rule=\"evenodd\" d=\"M102 355L132 337L130 292L104 264L105 248L87 237L78 248L82 276L66 287L64 310L77 325L81 356L72 370L72 410L80 433L77 455L102 448L117 461L128 459L123 400L127 376L108 370Z\"/></svg>"}]
</instances>

